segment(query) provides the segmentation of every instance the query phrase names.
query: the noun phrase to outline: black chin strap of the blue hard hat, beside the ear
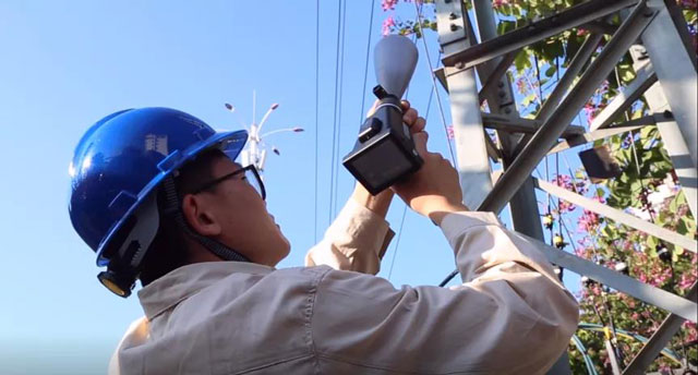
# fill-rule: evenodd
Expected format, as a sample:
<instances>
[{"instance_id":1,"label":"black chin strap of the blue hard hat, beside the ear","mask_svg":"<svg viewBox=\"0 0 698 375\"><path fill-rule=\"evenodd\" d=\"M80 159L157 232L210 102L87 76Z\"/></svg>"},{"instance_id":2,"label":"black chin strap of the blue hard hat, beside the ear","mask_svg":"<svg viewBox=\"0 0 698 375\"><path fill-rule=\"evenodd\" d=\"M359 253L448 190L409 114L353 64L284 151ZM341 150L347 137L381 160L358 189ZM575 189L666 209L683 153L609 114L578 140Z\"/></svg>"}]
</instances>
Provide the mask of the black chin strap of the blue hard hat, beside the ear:
<instances>
[{"instance_id":1,"label":"black chin strap of the blue hard hat, beside the ear","mask_svg":"<svg viewBox=\"0 0 698 375\"><path fill-rule=\"evenodd\" d=\"M177 185L174 184L174 178L168 177L163 182L163 193L165 194L165 205L163 207L163 213L166 216L171 215L174 219L177 226L184 232L186 235L194 239L202 246L206 247L209 252L214 253L218 257L224 261L232 261L232 262L250 262L250 259L240 254L239 252L224 245L222 243L209 239L205 235L201 235L196 233L188 223L184 221L184 215L182 214L180 197L177 193Z\"/></svg>"}]
</instances>

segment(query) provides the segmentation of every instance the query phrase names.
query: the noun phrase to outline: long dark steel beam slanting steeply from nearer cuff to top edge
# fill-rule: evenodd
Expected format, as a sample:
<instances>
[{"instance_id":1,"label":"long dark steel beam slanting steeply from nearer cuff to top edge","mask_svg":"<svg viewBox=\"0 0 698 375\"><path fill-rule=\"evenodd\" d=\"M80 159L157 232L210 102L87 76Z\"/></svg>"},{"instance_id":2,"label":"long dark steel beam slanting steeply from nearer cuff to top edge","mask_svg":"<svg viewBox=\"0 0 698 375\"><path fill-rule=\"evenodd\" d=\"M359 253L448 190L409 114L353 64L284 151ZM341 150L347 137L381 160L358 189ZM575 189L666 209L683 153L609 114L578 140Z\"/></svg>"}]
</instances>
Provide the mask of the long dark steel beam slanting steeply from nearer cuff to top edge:
<instances>
[{"instance_id":1,"label":"long dark steel beam slanting steeply from nearer cuff to top edge","mask_svg":"<svg viewBox=\"0 0 698 375\"><path fill-rule=\"evenodd\" d=\"M547 150L557 143L567 124L577 116L588 98L601 85L633 43L639 37L654 12L640 2L621 25L599 57L579 78L579 82L535 132L512 167L504 172L478 210L498 213L529 178Z\"/></svg>"}]
</instances>

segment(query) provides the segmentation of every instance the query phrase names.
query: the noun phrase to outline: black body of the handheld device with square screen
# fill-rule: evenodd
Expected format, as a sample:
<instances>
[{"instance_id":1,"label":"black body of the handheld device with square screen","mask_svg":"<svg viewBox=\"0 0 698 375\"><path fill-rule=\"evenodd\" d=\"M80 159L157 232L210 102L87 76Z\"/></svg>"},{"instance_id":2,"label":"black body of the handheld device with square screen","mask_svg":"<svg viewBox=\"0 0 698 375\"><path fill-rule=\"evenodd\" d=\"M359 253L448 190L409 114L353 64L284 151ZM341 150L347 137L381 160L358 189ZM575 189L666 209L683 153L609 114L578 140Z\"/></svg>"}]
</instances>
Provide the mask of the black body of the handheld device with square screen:
<instances>
[{"instance_id":1,"label":"black body of the handheld device with square screen","mask_svg":"<svg viewBox=\"0 0 698 375\"><path fill-rule=\"evenodd\" d=\"M416 172L424 161L414 148L410 129L402 121L400 99L380 85L375 112L361 125L353 149L342 164L373 195Z\"/></svg>"}]
</instances>

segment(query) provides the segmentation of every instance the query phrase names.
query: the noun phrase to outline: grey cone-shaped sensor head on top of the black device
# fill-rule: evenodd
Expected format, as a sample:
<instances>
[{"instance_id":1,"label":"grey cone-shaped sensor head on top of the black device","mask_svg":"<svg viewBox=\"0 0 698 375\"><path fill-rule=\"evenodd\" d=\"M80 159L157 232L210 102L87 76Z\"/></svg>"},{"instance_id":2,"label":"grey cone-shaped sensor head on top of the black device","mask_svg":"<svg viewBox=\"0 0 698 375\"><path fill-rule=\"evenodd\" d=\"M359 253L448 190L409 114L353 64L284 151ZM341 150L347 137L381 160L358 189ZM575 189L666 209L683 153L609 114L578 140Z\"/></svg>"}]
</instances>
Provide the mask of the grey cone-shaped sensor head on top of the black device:
<instances>
[{"instance_id":1,"label":"grey cone-shaped sensor head on top of the black device","mask_svg":"<svg viewBox=\"0 0 698 375\"><path fill-rule=\"evenodd\" d=\"M378 84L401 98L417 66L417 47L407 37L388 35L375 46L373 56Z\"/></svg>"}]
</instances>

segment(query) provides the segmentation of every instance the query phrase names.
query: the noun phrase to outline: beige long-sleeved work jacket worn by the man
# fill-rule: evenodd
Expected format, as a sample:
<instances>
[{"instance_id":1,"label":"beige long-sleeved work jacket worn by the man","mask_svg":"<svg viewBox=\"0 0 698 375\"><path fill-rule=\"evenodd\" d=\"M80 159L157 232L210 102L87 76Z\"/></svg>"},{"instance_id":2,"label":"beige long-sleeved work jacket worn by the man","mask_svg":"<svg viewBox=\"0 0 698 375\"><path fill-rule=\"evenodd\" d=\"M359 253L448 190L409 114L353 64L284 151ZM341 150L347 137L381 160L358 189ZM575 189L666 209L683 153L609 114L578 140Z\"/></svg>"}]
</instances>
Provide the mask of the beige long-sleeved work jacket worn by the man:
<instances>
[{"instance_id":1,"label":"beige long-sleeved work jacket worn by the man","mask_svg":"<svg viewBox=\"0 0 698 375\"><path fill-rule=\"evenodd\" d=\"M370 275L393 233L353 202L310 250L309 267L178 268L139 292L145 317L109 372L544 373L578 319L551 265L493 214L450 214L441 229L466 281L457 287L395 289Z\"/></svg>"}]
</instances>

